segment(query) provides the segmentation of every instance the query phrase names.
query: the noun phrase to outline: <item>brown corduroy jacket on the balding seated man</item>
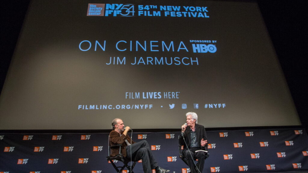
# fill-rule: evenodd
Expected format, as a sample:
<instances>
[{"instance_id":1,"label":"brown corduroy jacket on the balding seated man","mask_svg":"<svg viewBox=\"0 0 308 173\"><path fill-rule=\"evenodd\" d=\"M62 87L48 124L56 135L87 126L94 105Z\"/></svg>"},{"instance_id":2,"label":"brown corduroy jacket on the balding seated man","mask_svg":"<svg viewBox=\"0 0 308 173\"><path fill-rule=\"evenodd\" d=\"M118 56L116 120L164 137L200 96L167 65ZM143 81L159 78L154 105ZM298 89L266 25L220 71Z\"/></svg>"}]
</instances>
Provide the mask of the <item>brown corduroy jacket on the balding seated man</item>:
<instances>
[{"instance_id":1,"label":"brown corduroy jacket on the balding seated man","mask_svg":"<svg viewBox=\"0 0 308 173\"><path fill-rule=\"evenodd\" d=\"M121 153L123 154L124 157L126 157L126 150L125 147L127 146L127 143L125 142L125 139L127 139L127 141L129 143L135 143L130 137L129 135L120 135L118 132L116 131L111 131L109 134L109 146L112 147L114 145L118 145L118 144L122 144L123 146L121 146ZM132 142L131 142L132 140ZM114 157L115 155L119 154L119 148L111 148L110 149L110 156Z\"/></svg>"}]
</instances>

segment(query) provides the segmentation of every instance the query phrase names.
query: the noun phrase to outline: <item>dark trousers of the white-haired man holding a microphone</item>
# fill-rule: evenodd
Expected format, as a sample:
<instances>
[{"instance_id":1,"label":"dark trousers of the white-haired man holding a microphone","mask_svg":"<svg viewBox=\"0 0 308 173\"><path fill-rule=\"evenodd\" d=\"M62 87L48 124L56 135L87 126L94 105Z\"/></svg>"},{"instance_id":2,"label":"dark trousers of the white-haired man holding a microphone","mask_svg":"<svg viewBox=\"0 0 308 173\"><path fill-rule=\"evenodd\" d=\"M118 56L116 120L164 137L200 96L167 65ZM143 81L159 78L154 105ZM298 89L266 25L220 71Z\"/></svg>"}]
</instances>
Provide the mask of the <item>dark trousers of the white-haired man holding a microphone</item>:
<instances>
[{"instance_id":1,"label":"dark trousers of the white-haired man holding a microphone","mask_svg":"<svg viewBox=\"0 0 308 173\"><path fill-rule=\"evenodd\" d=\"M200 148L189 148L186 149L185 151L183 151L183 155L184 155L184 159L186 161L186 163L188 164L191 173L199 173L198 171L196 172L195 170L195 164L193 159L198 159L198 169L199 171L202 173L203 171L203 167L204 167L204 161L206 159L205 155L206 153L203 151L198 151L197 153L195 152L196 150L200 150ZM191 155L189 154L189 152L191 153ZM193 156L193 159L192 159Z\"/></svg>"}]
</instances>

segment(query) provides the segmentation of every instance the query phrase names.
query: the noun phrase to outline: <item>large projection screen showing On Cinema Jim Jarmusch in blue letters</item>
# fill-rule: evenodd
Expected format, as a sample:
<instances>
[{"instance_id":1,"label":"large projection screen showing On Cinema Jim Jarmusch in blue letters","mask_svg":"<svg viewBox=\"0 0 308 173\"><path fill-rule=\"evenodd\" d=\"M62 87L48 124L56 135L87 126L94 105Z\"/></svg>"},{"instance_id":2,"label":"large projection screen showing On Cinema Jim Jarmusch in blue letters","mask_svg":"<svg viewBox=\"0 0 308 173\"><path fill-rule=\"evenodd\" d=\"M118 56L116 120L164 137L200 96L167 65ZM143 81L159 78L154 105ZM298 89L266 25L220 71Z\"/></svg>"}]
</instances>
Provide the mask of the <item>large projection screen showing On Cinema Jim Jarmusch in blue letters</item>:
<instances>
[{"instance_id":1,"label":"large projection screen showing On Cinema Jim Jarmusch in blue letters","mask_svg":"<svg viewBox=\"0 0 308 173\"><path fill-rule=\"evenodd\" d=\"M256 2L33 0L0 129L300 125Z\"/></svg>"}]
</instances>

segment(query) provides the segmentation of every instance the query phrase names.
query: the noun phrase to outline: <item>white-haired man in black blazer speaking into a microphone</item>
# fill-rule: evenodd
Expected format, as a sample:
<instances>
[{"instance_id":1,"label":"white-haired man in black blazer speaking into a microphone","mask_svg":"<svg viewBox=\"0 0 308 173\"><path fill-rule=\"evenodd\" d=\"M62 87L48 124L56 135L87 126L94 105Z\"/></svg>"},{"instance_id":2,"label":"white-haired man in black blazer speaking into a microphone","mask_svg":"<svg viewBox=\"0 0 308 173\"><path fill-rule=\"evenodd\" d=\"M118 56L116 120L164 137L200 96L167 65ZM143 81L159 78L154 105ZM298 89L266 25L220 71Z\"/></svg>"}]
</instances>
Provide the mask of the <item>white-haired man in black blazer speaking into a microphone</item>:
<instances>
[{"instance_id":1,"label":"white-haired man in black blazer speaking into a microphone","mask_svg":"<svg viewBox=\"0 0 308 173\"><path fill-rule=\"evenodd\" d=\"M190 167L192 173L202 173L207 155L207 143L205 128L197 124L198 115L195 112L186 113L186 123L181 127L182 132L179 144L184 145L182 154L184 162ZM195 170L194 160L198 159L197 170Z\"/></svg>"}]
</instances>

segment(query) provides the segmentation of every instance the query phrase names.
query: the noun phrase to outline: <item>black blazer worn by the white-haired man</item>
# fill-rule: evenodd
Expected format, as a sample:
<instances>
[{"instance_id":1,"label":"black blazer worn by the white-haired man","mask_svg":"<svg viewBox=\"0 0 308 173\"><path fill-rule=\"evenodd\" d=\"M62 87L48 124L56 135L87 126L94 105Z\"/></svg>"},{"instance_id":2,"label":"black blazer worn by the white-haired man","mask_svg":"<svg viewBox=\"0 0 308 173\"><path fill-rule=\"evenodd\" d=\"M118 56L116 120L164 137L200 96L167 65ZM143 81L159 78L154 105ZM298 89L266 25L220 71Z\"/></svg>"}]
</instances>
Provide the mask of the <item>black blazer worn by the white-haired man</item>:
<instances>
[{"instance_id":1,"label":"black blazer worn by the white-haired man","mask_svg":"<svg viewBox=\"0 0 308 173\"><path fill-rule=\"evenodd\" d=\"M196 129L197 141L199 143L200 149L206 150L208 144L206 144L204 147L201 147L201 139L207 140L204 126L196 124L195 129ZM187 143L187 145L190 146L191 139L190 139L190 127L189 126L184 131L183 136L184 136L184 139L185 139L185 142ZM184 139L183 139L183 136L180 135L179 145L184 145L184 150L183 151L185 151L185 149L187 149L188 146L186 146L186 144L184 142Z\"/></svg>"}]
</instances>

